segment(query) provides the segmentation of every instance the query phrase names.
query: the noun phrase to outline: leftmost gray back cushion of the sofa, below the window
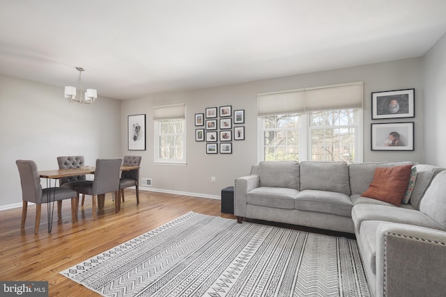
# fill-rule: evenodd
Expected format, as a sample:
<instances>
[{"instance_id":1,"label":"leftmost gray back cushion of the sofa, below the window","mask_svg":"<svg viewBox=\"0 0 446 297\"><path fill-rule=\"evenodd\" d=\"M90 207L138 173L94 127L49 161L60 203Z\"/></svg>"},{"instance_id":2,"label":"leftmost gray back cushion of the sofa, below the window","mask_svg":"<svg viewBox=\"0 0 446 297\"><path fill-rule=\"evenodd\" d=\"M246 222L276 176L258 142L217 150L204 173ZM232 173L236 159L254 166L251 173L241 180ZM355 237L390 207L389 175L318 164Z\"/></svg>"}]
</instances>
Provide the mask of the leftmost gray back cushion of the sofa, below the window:
<instances>
[{"instance_id":1,"label":"leftmost gray back cushion of the sofa, below the window","mask_svg":"<svg viewBox=\"0 0 446 297\"><path fill-rule=\"evenodd\" d=\"M262 161L259 185L299 190L299 163L296 161Z\"/></svg>"}]
</instances>

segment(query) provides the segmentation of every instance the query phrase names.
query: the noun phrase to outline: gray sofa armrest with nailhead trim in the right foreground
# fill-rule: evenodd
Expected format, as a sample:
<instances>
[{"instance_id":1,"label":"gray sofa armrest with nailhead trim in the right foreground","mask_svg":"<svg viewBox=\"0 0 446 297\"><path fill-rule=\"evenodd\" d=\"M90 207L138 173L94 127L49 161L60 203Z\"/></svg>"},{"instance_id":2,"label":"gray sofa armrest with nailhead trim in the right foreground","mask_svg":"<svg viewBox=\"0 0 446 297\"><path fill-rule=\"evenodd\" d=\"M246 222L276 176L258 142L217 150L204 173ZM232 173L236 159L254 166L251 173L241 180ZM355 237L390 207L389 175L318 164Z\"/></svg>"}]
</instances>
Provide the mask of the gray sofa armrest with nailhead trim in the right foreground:
<instances>
[{"instance_id":1,"label":"gray sofa armrest with nailhead trim in the right foreground","mask_svg":"<svg viewBox=\"0 0 446 297\"><path fill-rule=\"evenodd\" d=\"M378 226L376 296L444 296L445 279L446 232L394 223Z\"/></svg>"}]
</instances>

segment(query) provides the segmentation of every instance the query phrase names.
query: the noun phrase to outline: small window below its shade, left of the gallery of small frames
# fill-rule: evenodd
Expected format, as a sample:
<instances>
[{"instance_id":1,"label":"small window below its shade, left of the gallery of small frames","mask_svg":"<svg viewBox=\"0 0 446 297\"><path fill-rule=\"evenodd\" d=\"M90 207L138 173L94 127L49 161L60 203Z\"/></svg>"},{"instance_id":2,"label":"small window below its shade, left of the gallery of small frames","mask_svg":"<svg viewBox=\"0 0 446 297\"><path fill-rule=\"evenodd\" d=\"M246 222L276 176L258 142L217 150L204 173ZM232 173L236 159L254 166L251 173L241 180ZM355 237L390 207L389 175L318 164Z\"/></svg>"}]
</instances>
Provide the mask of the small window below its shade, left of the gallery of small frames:
<instances>
[{"instance_id":1,"label":"small window below its shade, left of the gallery of small frames","mask_svg":"<svg viewBox=\"0 0 446 297\"><path fill-rule=\"evenodd\" d=\"M186 163L185 120L155 121L155 161L160 163Z\"/></svg>"}]
</instances>

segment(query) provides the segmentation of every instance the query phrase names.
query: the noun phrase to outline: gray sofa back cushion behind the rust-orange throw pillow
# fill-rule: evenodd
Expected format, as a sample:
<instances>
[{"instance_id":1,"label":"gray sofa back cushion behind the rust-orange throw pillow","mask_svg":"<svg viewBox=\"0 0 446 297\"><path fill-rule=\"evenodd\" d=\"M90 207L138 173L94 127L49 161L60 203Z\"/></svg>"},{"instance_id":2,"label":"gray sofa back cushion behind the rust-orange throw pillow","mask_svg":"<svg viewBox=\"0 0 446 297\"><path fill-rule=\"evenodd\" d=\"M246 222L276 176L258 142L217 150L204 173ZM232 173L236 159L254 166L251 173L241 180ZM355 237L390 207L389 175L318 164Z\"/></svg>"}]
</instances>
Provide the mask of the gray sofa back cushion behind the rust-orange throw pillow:
<instances>
[{"instance_id":1,"label":"gray sofa back cushion behind the rust-orange throw pillow","mask_svg":"<svg viewBox=\"0 0 446 297\"><path fill-rule=\"evenodd\" d=\"M362 195L374 180L375 169L378 167L394 167L413 164L413 162L373 162L357 163L348 166L351 195ZM412 193L414 195L414 193Z\"/></svg>"}]
</instances>

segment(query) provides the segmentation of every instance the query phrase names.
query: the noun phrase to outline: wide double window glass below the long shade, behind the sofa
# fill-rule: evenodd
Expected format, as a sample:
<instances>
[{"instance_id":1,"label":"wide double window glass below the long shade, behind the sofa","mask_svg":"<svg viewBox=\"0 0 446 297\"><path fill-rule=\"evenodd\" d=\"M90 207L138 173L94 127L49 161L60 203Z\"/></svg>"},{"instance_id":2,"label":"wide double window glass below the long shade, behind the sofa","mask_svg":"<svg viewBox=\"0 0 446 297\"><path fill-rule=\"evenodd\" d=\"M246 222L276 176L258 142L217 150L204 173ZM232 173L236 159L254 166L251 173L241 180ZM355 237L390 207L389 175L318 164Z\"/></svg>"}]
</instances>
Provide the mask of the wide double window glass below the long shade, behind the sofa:
<instances>
[{"instance_id":1,"label":"wide double window glass below the long shade, behind the sofa","mask_svg":"<svg viewBox=\"0 0 446 297\"><path fill-rule=\"evenodd\" d=\"M358 152L361 109L313 111L260 118L260 161L362 160Z\"/></svg>"}]
</instances>

